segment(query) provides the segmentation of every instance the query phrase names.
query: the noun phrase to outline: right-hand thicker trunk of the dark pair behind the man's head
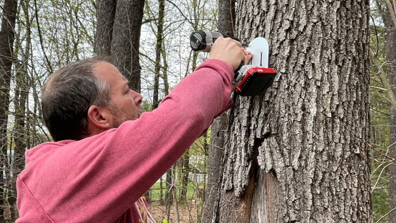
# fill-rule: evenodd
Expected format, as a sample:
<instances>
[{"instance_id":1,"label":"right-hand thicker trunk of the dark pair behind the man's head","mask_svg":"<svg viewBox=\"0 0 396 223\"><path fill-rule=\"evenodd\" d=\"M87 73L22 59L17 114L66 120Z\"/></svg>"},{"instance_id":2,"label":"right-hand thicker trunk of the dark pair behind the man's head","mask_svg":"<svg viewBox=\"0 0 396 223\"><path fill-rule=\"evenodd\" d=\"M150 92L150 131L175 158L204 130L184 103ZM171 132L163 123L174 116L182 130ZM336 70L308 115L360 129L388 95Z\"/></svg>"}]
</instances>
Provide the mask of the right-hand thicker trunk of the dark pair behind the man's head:
<instances>
[{"instance_id":1,"label":"right-hand thicker trunk of the dark pair behind the man's head","mask_svg":"<svg viewBox=\"0 0 396 223\"><path fill-rule=\"evenodd\" d=\"M117 0L111 54L114 65L129 80L129 87L140 92L139 40L144 0Z\"/></svg>"}]
</instances>

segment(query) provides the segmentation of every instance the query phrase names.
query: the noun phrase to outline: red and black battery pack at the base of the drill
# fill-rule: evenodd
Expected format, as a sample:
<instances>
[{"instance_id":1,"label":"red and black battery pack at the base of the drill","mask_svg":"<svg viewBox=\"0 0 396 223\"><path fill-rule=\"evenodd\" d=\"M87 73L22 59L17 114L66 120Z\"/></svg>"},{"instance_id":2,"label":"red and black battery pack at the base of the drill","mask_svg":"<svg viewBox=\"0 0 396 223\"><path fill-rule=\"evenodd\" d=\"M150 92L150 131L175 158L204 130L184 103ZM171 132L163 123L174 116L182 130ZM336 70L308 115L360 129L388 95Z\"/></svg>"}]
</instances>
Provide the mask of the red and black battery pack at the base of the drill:
<instances>
[{"instance_id":1,"label":"red and black battery pack at the base of the drill","mask_svg":"<svg viewBox=\"0 0 396 223\"><path fill-rule=\"evenodd\" d=\"M262 95L272 85L275 76L272 68L252 67L236 86L236 93L240 96Z\"/></svg>"}]
</instances>

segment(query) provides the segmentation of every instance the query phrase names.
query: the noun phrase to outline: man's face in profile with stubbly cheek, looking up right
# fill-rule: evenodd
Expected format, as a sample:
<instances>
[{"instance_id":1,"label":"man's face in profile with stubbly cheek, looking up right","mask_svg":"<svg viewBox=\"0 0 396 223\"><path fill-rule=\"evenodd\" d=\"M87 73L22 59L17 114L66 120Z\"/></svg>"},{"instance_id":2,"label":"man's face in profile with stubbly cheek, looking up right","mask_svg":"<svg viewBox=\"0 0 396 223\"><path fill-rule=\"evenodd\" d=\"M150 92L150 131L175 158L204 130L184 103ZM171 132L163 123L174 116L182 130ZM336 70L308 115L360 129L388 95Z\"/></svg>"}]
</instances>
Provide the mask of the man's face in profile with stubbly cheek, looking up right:
<instances>
[{"instance_id":1,"label":"man's face in profile with stubbly cheek, looking up right","mask_svg":"<svg viewBox=\"0 0 396 223\"><path fill-rule=\"evenodd\" d=\"M118 69L108 62L97 62L93 73L103 78L110 86L110 105L112 114L109 120L111 127L118 127L122 122L135 120L142 113L140 103L142 97L136 91L129 89L128 81Z\"/></svg>"}]
</instances>

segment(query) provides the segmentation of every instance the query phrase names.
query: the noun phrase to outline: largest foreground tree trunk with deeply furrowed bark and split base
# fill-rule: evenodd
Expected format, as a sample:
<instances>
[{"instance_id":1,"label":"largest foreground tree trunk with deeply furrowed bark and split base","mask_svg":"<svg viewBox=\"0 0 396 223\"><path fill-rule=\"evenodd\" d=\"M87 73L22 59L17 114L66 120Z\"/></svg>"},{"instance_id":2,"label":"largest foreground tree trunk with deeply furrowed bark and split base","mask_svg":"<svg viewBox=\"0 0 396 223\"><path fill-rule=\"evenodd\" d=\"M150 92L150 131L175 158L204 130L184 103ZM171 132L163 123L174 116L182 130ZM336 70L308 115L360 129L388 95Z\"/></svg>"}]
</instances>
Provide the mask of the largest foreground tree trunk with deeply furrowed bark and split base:
<instances>
[{"instance_id":1,"label":"largest foreground tree trunk with deeply furrowed bark and split base","mask_svg":"<svg viewBox=\"0 0 396 223\"><path fill-rule=\"evenodd\" d=\"M218 222L370 222L368 1L240 0L236 36L277 77L234 97Z\"/></svg>"}]
</instances>

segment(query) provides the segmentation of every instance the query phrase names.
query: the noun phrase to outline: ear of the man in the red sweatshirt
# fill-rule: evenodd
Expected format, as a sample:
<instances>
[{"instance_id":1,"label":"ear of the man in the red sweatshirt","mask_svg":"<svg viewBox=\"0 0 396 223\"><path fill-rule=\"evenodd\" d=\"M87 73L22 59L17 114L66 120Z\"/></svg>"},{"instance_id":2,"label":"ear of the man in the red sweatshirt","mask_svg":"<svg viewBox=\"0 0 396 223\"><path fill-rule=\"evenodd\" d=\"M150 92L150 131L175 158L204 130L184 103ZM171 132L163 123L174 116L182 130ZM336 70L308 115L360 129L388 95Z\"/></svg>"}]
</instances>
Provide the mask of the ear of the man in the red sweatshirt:
<instances>
[{"instance_id":1,"label":"ear of the man in the red sweatshirt","mask_svg":"<svg viewBox=\"0 0 396 223\"><path fill-rule=\"evenodd\" d=\"M107 107L92 105L88 109L89 125L99 129L110 129L111 112ZM93 129L91 129L93 130Z\"/></svg>"}]
</instances>

